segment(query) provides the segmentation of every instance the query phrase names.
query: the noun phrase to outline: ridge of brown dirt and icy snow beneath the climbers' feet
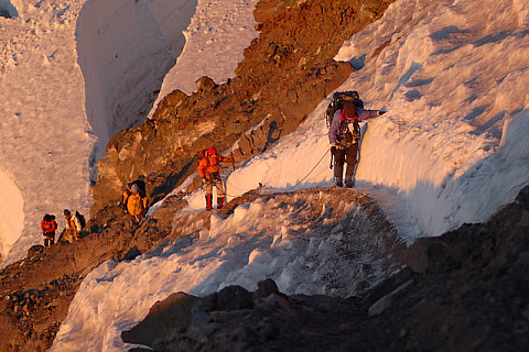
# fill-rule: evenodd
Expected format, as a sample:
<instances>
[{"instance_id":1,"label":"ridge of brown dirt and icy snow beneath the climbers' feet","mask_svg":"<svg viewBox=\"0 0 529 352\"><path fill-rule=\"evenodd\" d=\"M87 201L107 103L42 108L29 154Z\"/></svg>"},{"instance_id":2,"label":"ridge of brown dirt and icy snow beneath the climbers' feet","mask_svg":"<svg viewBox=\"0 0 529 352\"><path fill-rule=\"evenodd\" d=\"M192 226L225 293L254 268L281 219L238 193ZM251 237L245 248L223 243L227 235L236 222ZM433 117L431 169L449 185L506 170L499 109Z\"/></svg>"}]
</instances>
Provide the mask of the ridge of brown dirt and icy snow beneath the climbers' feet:
<instances>
[{"instance_id":1,"label":"ridge of brown dirt and icy snow beneath the climbers' feet","mask_svg":"<svg viewBox=\"0 0 529 352\"><path fill-rule=\"evenodd\" d=\"M52 350L106 350L101 336L119 346L120 329L102 321L117 319L116 326L137 321L143 309L172 292L176 283L181 289L187 285L185 290L199 294L207 293L214 283L223 287L245 279L251 286L258 276L266 275L292 293L311 289L348 295L367 289L399 265L403 243L373 200L354 190L346 198L338 194L342 190L317 188L284 195L253 194L229 202L224 215L216 216L206 211L181 213L182 205L168 198L139 228L122 223L121 213L114 215L100 233L77 243L56 244L2 271L0 348L47 349L61 323ZM276 221L279 213L281 223ZM273 254L267 254L270 249ZM140 253L145 254L134 260ZM361 263L360 271L353 270L355 263ZM202 267L201 277L192 274L196 265ZM176 282L171 278L175 268L181 277ZM342 282L343 275L349 279ZM203 284L195 287L199 282ZM300 286L303 282L310 285ZM101 289L104 283L106 288ZM131 283L140 285L130 289ZM77 293L79 285L98 287L102 296L90 292L83 297ZM152 295L155 286L161 292ZM68 309L73 299L80 305L74 302ZM105 308L82 308L91 307L93 299ZM129 304L128 317L118 312ZM66 315L71 318L63 322Z\"/></svg>"}]
</instances>

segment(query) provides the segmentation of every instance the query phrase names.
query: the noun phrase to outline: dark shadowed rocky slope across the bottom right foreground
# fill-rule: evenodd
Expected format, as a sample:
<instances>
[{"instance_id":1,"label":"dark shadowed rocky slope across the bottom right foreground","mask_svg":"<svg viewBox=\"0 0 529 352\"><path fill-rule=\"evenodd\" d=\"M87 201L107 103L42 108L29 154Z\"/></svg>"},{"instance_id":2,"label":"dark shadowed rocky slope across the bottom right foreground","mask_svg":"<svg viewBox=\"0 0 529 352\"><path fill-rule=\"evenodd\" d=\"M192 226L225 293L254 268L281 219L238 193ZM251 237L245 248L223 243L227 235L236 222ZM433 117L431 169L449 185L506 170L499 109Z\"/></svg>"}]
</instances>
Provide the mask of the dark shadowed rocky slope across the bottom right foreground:
<instances>
[{"instance_id":1,"label":"dark shadowed rocky slope across the bottom right foreground","mask_svg":"<svg viewBox=\"0 0 529 352\"><path fill-rule=\"evenodd\" d=\"M158 302L123 340L155 351L522 351L529 343L529 188L490 221L421 239L408 267L348 299L270 280Z\"/></svg>"}]
</instances>

